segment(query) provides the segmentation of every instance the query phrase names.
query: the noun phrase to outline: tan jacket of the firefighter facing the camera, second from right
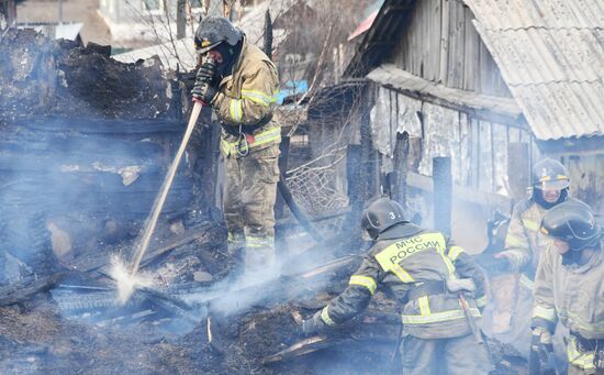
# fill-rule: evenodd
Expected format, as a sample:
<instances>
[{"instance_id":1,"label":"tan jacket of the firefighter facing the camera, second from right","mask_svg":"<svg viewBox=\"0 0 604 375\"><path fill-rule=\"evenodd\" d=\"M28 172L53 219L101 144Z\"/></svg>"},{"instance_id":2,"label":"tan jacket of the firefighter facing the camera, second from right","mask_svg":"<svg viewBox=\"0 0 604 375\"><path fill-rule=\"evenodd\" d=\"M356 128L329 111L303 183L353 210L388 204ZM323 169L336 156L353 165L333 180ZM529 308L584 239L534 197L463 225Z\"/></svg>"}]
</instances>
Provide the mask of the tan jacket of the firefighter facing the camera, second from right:
<instances>
[{"instance_id":1,"label":"tan jacket of the firefighter facing the camera, second from right","mask_svg":"<svg viewBox=\"0 0 604 375\"><path fill-rule=\"evenodd\" d=\"M518 268L523 268L521 284L527 290L533 290L533 275L541 253L551 245L551 240L539 232L546 212L547 209L530 198L519 201L514 206L505 238L505 250L514 256Z\"/></svg>"}]
</instances>

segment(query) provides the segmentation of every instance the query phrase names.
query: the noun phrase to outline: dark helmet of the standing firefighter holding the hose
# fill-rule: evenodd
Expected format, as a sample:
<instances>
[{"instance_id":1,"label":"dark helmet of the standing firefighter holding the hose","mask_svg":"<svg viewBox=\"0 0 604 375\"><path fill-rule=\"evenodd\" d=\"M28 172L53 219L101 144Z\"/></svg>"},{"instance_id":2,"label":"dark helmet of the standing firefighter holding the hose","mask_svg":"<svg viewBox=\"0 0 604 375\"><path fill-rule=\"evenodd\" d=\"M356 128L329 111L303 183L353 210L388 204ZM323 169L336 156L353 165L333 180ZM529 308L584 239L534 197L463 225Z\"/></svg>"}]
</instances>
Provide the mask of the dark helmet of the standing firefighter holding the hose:
<instances>
[{"instance_id":1,"label":"dark helmet of the standing firefighter holding the hose","mask_svg":"<svg viewBox=\"0 0 604 375\"><path fill-rule=\"evenodd\" d=\"M242 31L224 16L206 16L201 20L195 31L195 49L200 54L204 54L222 42L235 46L242 38Z\"/></svg>"}]
</instances>

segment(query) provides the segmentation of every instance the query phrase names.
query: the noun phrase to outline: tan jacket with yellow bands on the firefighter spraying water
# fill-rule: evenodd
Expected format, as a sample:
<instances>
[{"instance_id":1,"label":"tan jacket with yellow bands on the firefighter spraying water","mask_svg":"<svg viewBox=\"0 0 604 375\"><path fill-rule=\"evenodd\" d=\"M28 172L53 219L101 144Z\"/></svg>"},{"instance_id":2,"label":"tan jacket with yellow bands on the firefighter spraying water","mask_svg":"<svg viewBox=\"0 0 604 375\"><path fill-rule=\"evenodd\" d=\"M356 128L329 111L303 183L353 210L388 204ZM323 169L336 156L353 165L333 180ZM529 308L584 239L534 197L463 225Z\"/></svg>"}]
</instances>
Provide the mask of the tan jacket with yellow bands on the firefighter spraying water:
<instances>
[{"instance_id":1,"label":"tan jacket with yellow bands on the firefighter spraying water","mask_svg":"<svg viewBox=\"0 0 604 375\"><path fill-rule=\"evenodd\" d=\"M224 156L245 156L281 142L281 128L271 121L278 85L272 62L244 37L233 74L221 80L212 100L223 123Z\"/></svg>"}]
</instances>

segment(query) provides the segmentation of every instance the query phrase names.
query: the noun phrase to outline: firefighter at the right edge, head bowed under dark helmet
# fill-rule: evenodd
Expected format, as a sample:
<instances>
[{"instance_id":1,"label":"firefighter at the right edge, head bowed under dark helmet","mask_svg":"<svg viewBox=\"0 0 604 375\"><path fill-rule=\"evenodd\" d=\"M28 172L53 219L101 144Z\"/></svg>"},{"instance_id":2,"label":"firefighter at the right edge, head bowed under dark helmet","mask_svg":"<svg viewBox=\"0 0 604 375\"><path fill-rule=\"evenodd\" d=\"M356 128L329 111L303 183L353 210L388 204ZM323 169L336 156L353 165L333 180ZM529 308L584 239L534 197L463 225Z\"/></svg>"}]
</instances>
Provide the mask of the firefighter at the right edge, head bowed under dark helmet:
<instances>
[{"instance_id":1,"label":"firefighter at the right edge, head bowed under dark helmet","mask_svg":"<svg viewBox=\"0 0 604 375\"><path fill-rule=\"evenodd\" d=\"M590 207L575 200L549 210L540 231L553 242L535 277L534 342L547 350L559 320L570 331L569 374L604 373L602 230Z\"/></svg>"}]
</instances>

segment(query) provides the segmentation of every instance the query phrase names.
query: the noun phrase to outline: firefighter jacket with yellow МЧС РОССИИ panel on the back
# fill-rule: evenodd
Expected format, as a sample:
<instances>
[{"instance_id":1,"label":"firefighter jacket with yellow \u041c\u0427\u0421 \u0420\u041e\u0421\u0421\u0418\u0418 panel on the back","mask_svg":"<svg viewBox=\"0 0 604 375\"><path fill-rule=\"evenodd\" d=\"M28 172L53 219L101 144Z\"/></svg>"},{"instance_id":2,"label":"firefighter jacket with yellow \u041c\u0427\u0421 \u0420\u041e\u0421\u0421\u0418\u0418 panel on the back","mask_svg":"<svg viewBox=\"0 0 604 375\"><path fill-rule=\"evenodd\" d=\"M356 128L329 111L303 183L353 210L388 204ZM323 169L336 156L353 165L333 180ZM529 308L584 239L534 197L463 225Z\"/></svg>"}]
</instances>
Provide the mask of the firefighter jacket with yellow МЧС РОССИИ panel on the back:
<instances>
[{"instance_id":1,"label":"firefighter jacket with yellow \u041c\u0427\u0421 \u0420\u041e\u0421\u0421\u0418\u0418 panel on the back","mask_svg":"<svg viewBox=\"0 0 604 375\"><path fill-rule=\"evenodd\" d=\"M470 255L439 232L399 224L380 234L346 290L321 311L321 319L327 326L339 324L365 310L376 290L383 288L402 308L405 333L420 339L468 334L470 327L457 295L445 288L412 294L445 278L473 279L476 299L468 298L468 304L471 315L479 318L479 308L486 302L486 279Z\"/></svg>"}]
</instances>

